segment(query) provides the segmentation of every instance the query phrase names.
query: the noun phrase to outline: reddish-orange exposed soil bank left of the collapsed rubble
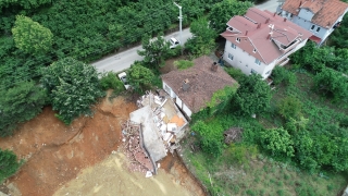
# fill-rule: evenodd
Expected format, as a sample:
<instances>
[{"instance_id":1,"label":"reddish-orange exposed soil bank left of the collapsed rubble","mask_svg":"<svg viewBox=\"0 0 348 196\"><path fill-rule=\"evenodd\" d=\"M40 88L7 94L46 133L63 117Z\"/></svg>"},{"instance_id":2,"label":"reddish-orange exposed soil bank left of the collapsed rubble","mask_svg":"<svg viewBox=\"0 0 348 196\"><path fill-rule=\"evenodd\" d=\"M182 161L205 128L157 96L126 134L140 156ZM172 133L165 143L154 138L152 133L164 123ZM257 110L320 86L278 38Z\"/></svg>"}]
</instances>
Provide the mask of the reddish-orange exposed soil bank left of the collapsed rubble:
<instances>
[{"instance_id":1,"label":"reddish-orange exposed soil bank left of the collapsed rubble","mask_svg":"<svg viewBox=\"0 0 348 196\"><path fill-rule=\"evenodd\" d=\"M51 108L45 108L37 118L21 125L12 137L0 138L0 148L12 149L26 160L17 174L7 181L10 193L49 196L67 186L83 169L117 150L122 138L120 124L134 110L136 106L123 97L112 101L105 98L96 107L94 118L82 117L66 126ZM82 195L88 194L82 192Z\"/></svg>"}]
</instances>

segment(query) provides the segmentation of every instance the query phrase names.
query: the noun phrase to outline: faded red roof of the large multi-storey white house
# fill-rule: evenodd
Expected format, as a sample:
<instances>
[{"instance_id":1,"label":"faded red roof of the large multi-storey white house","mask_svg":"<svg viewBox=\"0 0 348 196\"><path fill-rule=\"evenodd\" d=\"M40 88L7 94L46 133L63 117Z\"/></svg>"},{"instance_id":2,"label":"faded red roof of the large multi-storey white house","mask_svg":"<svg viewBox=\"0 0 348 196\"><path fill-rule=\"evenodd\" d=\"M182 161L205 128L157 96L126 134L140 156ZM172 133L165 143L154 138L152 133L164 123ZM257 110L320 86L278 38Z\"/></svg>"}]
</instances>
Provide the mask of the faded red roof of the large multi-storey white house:
<instances>
[{"instance_id":1,"label":"faded red roof of the large multi-storey white house","mask_svg":"<svg viewBox=\"0 0 348 196\"><path fill-rule=\"evenodd\" d=\"M287 47L297 39L304 40L312 35L279 15L256 8L249 9L245 16L232 17L227 25L233 29L222 33L221 36L265 64L287 52L286 49L281 50L281 45Z\"/></svg>"}]
</instances>

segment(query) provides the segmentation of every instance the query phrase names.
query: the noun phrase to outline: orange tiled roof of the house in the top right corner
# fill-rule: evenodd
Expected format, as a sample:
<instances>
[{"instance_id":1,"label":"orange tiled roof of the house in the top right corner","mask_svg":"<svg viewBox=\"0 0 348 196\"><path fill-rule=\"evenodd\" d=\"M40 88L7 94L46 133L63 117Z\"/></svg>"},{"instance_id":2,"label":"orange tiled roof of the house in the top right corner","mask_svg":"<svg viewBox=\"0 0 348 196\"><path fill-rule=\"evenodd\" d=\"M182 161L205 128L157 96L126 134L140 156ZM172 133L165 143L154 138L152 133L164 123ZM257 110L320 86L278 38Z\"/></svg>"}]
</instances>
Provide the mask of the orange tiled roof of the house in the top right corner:
<instances>
[{"instance_id":1,"label":"orange tiled roof of the house in the top right corner","mask_svg":"<svg viewBox=\"0 0 348 196\"><path fill-rule=\"evenodd\" d=\"M347 8L348 3L339 0L287 0L282 7L294 15L298 15L300 9L310 10L314 14L311 22L324 28L332 27Z\"/></svg>"}]
</instances>

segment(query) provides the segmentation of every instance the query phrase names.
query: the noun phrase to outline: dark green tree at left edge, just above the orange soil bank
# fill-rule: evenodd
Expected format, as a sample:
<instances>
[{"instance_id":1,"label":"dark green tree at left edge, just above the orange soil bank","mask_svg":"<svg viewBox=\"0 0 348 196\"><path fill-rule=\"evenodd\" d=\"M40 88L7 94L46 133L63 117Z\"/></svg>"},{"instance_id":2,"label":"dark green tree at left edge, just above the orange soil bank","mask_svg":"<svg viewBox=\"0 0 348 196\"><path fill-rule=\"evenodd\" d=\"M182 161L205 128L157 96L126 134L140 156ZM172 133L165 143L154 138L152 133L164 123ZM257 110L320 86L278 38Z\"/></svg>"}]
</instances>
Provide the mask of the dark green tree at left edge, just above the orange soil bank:
<instances>
[{"instance_id":1,"label":"dark green tree at left edge, just above the orange soil bank","mask_svg":"<svg viewBox=\"0 0 348 196\"><path fill-rule=\"evenodd\" d=\"M13 134L18 123L41 112L47 97L45 89L34 82L21 82L10 89L0 90L0 136Z\"/></svg>"}]
</instances>

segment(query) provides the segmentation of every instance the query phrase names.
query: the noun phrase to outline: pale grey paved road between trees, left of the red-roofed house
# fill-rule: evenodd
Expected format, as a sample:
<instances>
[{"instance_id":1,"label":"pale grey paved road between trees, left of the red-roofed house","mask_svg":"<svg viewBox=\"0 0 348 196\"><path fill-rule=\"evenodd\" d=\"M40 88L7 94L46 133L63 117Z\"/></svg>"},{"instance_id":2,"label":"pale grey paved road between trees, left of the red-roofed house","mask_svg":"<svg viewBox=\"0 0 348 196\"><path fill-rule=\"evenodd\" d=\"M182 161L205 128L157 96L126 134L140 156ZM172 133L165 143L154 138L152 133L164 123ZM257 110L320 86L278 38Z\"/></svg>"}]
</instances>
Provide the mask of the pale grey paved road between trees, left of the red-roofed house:
<instances>
[{"instance_id":1,"label":"pale grey paved road between trees, left of the red-roofed house","mask_svg":"<svg viewBox=\"0 0 348 196\"><path fill-rule=\"evenodd\" d=\"M183 29L183 42L186 42L192 34L189 32L189 28ZM170 39L171 37L175 37L179 39L179 33L173 33L171 35L165 36L165 39ZM126 70L134 63L134 61L141 61L144 58L138 56L137 50L141 50L141 46L134 47L124 52L115 53L112 57L103 58L99 61L91 63L98 70L98 72L121 72Z\"/></svg>"}]
</instances>

